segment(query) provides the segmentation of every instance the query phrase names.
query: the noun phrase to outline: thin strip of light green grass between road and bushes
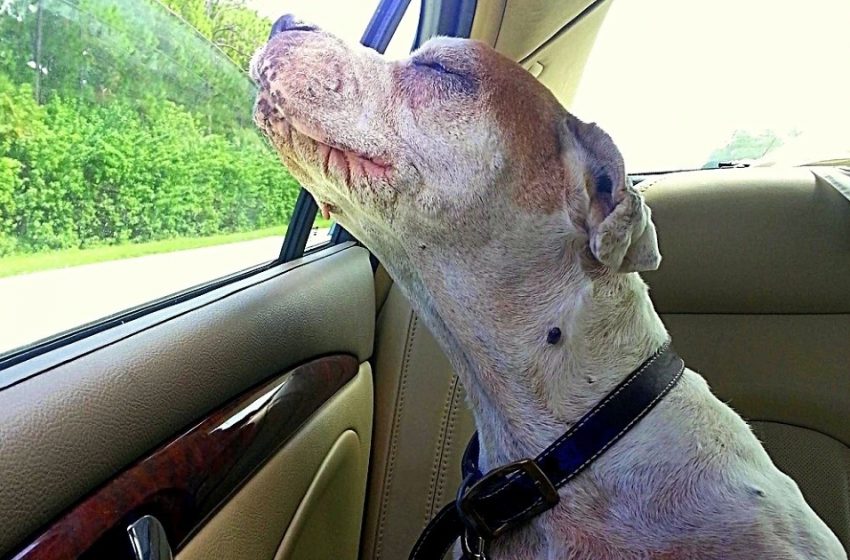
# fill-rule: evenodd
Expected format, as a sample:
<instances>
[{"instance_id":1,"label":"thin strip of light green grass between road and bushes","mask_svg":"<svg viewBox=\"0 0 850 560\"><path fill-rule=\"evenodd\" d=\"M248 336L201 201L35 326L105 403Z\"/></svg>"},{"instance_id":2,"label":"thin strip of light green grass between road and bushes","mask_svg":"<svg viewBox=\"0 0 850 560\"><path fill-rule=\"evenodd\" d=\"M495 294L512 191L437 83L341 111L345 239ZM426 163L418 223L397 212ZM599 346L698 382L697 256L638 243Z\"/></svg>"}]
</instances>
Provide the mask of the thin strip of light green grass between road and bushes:
<instances>
[{"instance_id":1,"label":"thin strip of light green grass between road and bushes","mask_svg":"<svg viewBox=\"0 0 850 560\"><path fill-rule=\"evenodd\" d=\"M331 222L329 220L325 220L321 216L316 216L313 227L326 228L330 227L330 225ZM83 264L131 259L145 255L251 241L264 237L277 236L282 238L285 233L286 226L277 226L255 231L213 235L210 237L178 237L175 239L164 239L162 241L151 241L149 243L128 243L126 245L108 245L94 247L92 249L65 249L50 253L0 257L0 278L26 274L28 272L38 272L40 270L67 268Z\"/></svg>"}]
</instances>

